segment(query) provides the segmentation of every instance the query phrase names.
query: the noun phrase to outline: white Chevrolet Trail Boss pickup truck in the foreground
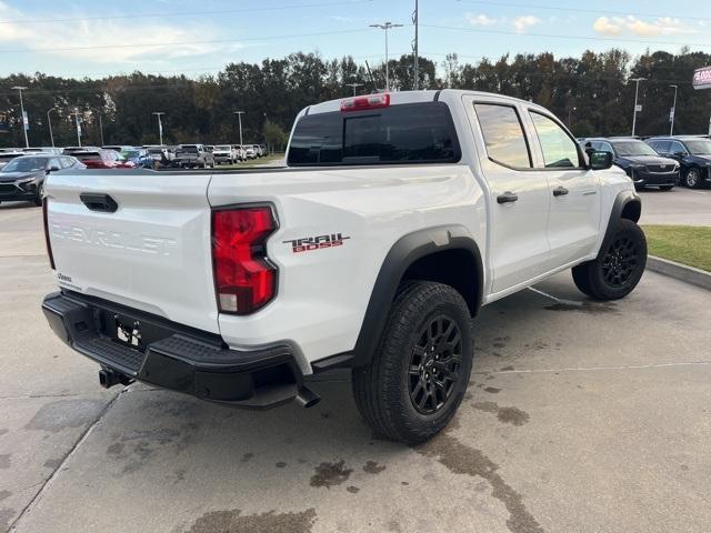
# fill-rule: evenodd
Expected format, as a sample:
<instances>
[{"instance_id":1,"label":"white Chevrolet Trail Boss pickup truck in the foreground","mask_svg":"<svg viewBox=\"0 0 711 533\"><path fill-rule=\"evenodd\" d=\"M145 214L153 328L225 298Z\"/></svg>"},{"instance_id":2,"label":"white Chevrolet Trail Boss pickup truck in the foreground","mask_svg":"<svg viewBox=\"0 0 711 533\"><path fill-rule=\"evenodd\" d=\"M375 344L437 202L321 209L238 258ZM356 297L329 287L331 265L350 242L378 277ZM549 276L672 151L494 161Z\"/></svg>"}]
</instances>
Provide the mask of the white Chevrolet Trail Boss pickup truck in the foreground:
<instances>
[{"instance_id":1,"label":"white Chevrolet Trail Boss pickup truck in the foreground","mask_svg":"<svg viewBox=\"0 0 711 533\"><path fill-rule=\"evenodd\" d=\"M309 406L307 376L350 368L363 418L404 443L458 409L482 305L571 268L619 299L647 261L610 154L480 92L309 107L287 168L64 171L46 191L60 292L43 310L104 386Z\"/></svg>"}]
</instances>

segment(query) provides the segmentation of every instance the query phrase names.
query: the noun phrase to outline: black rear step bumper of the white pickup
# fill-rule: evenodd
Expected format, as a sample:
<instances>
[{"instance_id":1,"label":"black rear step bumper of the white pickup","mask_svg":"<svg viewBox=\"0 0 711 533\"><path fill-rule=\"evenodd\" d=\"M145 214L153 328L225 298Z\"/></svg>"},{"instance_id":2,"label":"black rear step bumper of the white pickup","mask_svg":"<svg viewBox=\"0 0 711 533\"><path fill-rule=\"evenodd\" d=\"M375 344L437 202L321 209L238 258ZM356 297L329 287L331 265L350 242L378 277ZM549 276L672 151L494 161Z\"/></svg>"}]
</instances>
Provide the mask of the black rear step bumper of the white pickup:
<instances>
[{"instance_id":1,"label":"black rear step bumper of the white pickup","mask_svg":"<svg viewBox=\"0 0 711 533\"><path fill-rule=\"evenodd\" d=\"M42 311L64 343L102 368L203 400L266 409L293 400L303 381L289 345L230 350L217 334L70 292L47 295Z\"/></svg>"}]
</instances>

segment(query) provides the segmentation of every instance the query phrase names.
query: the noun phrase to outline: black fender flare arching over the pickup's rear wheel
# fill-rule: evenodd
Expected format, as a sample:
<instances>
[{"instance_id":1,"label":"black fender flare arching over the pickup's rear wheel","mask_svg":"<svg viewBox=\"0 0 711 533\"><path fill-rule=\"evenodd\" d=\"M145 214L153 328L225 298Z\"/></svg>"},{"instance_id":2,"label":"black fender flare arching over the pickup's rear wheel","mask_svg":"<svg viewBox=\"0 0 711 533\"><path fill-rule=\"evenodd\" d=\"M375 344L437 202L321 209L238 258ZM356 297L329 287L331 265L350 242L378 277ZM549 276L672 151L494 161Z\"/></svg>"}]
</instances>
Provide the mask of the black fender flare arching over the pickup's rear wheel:
<instances>
[{"instance_id":1,"label":"black fender flare arching over the pickup's rear wheel","mask_svg":"<svg viewBox=\"0 0 711 533\"><path fill-rule=\"evenodd\" d=\"M372 359L388 320L398 286L407 270L418 260L447 250L465 250L472 254L478 272L472 315L481 306L483 263L479 247L462 225L428 228L400 238L390 249L375 279L363 323L353 349L351 365L362 366Z\"/></svg>"}]
</instances>

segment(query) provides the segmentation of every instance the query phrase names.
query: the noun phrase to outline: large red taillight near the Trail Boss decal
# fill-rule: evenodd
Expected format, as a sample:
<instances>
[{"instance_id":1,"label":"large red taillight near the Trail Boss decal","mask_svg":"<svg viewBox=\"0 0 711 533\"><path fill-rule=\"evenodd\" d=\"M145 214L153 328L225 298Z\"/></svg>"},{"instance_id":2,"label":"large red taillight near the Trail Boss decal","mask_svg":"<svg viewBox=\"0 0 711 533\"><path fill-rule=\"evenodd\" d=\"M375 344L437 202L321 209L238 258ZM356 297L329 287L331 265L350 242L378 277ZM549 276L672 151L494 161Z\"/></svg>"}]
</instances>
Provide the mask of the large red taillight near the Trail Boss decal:
<instances>
[{"instance_id":1,"label":"large red taillight near the Trail Boss decal","mask_svg":"<svg viewBox=\"0 0 711 533\"><path fill-rule=\"evenodd\" d=\"M218 308L249 314L277 293L277 268L267 259L267 239L277 230L270 205L212 212L212 266Z\"/></svg>"}]
</instances>

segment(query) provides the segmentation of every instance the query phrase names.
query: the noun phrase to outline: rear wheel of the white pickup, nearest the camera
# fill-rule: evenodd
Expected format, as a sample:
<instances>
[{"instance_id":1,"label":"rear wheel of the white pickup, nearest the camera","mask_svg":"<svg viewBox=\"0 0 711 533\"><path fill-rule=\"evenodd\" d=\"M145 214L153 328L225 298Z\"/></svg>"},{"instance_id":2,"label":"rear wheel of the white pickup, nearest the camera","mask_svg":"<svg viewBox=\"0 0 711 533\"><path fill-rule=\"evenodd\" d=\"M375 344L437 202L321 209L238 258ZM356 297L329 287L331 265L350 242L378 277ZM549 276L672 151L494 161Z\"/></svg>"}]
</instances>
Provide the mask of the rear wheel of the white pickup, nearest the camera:
<instances>
[{"instance_id":1,"label":"rear wheel of the white pickup, nearest the camera","mask_svg":"<svg viewBox=\"0 0 711 533\"><path fill-rule=\"evenodd\" d=\"M449 285L404 283L369 364L351 374L361 415L379 434L424 442L449 423L471 373L469 308Z\"/></svg>"}]
</instances>

